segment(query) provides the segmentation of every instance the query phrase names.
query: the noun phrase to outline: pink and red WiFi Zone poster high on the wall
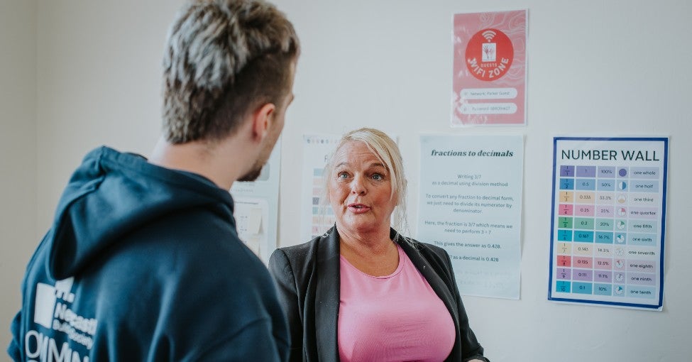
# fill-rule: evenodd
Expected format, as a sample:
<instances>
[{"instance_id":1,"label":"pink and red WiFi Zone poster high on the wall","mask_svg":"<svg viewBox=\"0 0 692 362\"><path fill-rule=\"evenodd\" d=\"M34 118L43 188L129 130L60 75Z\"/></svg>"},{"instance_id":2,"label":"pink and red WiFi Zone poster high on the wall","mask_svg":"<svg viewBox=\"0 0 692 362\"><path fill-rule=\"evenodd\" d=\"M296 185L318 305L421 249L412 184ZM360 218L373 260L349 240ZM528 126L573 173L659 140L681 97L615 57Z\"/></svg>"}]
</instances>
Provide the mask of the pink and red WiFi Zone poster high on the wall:
<instances>
[{"instance_id":1,"label":"pink and red WiFi Zone poster high on the wall","mask_svg":"<svg viewBox=\"0 0 692 362\"><path fill-rule=\"evenodd\" d=\"M526 124L527 16L454 14L451 126Z\"/></svg>"}]
</instances>

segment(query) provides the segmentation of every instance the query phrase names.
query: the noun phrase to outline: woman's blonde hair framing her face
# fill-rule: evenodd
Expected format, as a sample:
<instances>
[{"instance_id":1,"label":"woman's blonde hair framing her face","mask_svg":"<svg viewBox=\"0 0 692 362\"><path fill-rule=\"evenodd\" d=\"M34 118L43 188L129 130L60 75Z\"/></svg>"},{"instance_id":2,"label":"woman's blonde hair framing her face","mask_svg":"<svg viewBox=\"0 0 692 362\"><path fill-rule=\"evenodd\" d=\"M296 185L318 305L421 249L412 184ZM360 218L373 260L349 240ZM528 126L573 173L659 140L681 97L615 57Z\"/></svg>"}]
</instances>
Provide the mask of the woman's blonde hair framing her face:
<instances>
[{"instance_id":1,"label":"woman's blonde hair framing her face","mask_svg":"<svg viewBox=\"0 0 692 362\"><path fill-rule=\"evenodd\" d=\"M341 137L336 148L329 155L326 165L324 166L324 194L322 197L324 203L329 204L329 175L334 172L334 155L346 143L358 141L363 142L368 146L368 149L380 160L390 174L392 184L392 193L390 198L396 198L396 206L392 212L392 227L397 231L407 231L408 224L406 221L406 177L404 175L404 163L399 151L397 143L387 136L387 133L375 128L358 128L354 131L349 131ZM326 205L323 205L326 207Z\"/></svg>"}]
</instances>

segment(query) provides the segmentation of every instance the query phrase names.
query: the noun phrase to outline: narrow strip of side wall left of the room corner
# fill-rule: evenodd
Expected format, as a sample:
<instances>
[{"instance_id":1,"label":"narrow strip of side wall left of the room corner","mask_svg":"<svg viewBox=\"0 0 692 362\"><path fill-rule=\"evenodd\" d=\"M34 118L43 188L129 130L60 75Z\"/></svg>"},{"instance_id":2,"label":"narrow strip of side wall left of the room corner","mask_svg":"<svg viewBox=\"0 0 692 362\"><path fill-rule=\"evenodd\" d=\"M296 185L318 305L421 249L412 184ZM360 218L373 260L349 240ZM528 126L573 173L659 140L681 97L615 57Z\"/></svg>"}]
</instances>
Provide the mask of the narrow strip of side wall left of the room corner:
<instances>
[{"instance_id":1,"label":"narrow strip of side wall left of the room corner","mask_svg":"<svg viewBox=\"0 0 692 362\"><path fill-rule=\"evenodd\" d=\"M0 1L0 361L36 234L36 1Z\"/></svg>"}]
</instances>

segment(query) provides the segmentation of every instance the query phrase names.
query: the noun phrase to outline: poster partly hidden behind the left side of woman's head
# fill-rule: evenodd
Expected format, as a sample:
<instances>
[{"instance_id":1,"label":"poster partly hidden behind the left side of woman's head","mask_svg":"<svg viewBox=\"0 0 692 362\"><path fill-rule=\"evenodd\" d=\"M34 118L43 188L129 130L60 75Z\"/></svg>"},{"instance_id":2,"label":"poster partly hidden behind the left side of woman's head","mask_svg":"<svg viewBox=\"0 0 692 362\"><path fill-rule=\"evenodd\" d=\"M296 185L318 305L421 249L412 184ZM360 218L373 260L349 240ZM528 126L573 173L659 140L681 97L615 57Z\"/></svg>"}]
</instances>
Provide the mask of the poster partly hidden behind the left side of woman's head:
<instances>
[{"instance_id":1,"label":"poster partly hidden behind the left side of woman's head","mask_svg":"<svg viewBox=\"0 0 692 362\"><path fill-rule=\"evenodd\" d=\"M334 212L324 201L324 165L336 147L339 135L304 135L300 240L306 242L334 225Z\"/></svg>"}]
</instances>

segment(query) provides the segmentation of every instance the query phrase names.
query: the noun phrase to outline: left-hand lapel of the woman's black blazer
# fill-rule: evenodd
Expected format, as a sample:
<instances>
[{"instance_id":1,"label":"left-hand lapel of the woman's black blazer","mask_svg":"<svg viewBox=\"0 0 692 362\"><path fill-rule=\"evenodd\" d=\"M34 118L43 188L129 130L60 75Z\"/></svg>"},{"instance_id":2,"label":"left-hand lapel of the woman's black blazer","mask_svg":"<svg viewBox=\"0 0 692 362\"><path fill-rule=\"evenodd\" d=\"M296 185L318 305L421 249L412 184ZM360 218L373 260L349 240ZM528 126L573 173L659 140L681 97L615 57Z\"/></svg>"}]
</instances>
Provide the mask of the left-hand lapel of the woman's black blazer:
<instances>
[{"instance_id":1,"label":"left-hand lapel of the woman's black blazer","mask_svg":"<svg viewBox=\"0 0 692 362\"><path fill-rule=\"evenodd\" d=\"M320 238L317 249L315 331L319 361L339 361L337 320L339 317L339 233L336 226Z\"/></svg>"}]
</instances>

